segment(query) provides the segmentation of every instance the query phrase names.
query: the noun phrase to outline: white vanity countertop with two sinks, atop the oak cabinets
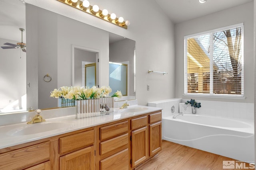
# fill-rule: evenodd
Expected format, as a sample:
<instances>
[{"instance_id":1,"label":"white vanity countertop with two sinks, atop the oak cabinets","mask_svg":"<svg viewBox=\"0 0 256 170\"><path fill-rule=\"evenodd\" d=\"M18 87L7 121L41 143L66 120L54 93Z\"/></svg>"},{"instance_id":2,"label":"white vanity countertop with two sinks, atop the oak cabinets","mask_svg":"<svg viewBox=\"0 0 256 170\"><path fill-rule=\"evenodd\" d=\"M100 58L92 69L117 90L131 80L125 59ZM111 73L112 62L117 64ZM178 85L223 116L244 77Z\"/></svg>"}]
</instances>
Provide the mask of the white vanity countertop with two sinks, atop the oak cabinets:
<instances>
[{"instance_id":1,"label":"white vanity countertop with two sinks, atop the oak cabinets","mask_svg":"<svg viewBox=\"0 0 256 170\"><path fill-rule=\"evenodd\" d=\"M139 105L129 106L128 109L134 108L134 107L144 107L144 108L146 107L148 109L144 111L138 111L138 112L125 112L126 109L115 108L114 112L109 113L109 115L106 115L103 113L100 116L96 116L96 117L75 119L75 114L74 114L74 115L68 115L63 117L46 119L46 122L34 123L30 125L23 122L23 123L17 123L12 125L0 126L0 136L1 136L0 149L11 147L14 145L19 145L22 143L36 141L39 139L44 139L47 137L61 135L64 133L68 133L68 132L72 132L72 131L76 131L76 130L80 130L88 127L94 127L97 125L126 119L136 115L142 115L145 113L162 110L162 108L159 108L159 107L148 107L148 106L139 106ZM44 132L40 132L40 133L34 133L31 135L17 135L18 131L28 127L29 128L34 127L33 131L34 130L37 131L36 128L38 128L38 131L40 131L42 130L42 124L47 124L47 123L56 123L56 124L66 123L66 124L64 125L64 127L63 126L58 127L58 129L55 129L55 130L44 131L43 129ZM43 126L43 127L45 128L46 126Z\"/></svg>"}]
</instances>

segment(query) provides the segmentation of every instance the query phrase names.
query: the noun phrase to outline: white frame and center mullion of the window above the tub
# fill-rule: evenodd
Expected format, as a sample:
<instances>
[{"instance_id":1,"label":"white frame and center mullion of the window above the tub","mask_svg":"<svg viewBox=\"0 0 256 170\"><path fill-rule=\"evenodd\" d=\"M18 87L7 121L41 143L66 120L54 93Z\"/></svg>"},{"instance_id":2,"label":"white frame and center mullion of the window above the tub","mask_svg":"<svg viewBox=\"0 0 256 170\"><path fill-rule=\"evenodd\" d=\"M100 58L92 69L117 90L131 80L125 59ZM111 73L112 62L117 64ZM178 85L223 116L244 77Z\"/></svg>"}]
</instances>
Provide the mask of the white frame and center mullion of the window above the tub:
<instances>
[{"instance_id":1,"label":"white frame and center mullion of the window above the tub","mask_svg":"<svg viewBox=\"0 0 256 170\"><path fill-rule=\"evenodd\" d=\"M235 27L242 27L242 50L241 50L241 65L242 65L242 70L241 70L241 74L242 74L242 81L241 81L241 94L214 94L214 93L211 93L212 91L210 90L210 93L209 94L206 94L206 93L188 93L188 81L187 81L187 78L188 78L188 75L187 75L187 39L188 38L192 38L192 37L197 37L197 36L200 36L200 35L205 35L205 34L210 34L210 39L212 40L212 34L214 32L218 32L218 31L222 31L222 30L226 30L226 29L232 29L232 28L235 28ZM212 47L212 43L213 41L210 41L210 46ZM212 49L211 49L212 50ZM213 60L213 56L212 56L212 53L210 54L210 62L212 62ZM210 74L213 74L213 68L211 66L210 68ZM212 75L211 75L212 76ZM211 78L210 78L211 79ZM213 76L212 76L212 79L210 80L210 84L212 85L213 87ZM184 36L184 94L183 96L186 96L186 97L206 97L206 98L232 98L232 99L245 99L245 96L244 96L244 23L238 23L238 24L234 24L234 25L229 25L229 26L226 26L226 27L221 27L221 28L217 28L217 29L212 29L212 30L209 30L209 31L204 31L204 32L200 32L200 33L195 33L195 34L192 34L192 35L186 35Z\"/></svg>"}]
</instances>

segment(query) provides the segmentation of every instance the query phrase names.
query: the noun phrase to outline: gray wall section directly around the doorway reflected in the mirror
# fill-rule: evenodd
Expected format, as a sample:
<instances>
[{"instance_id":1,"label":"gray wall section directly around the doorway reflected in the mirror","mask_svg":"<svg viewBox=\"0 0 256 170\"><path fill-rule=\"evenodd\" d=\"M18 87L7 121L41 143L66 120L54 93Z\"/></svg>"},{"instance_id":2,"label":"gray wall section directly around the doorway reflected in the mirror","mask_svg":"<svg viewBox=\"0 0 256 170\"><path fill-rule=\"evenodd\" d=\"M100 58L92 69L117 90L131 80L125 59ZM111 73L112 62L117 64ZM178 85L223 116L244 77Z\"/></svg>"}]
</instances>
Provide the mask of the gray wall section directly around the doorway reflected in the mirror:
<instances>
[{"instance_id":1,"label":"gray wall section directly around the doorway reflected in the mirror","mask_svg":"<svg viewBox=\"0 0 256 170\"><path fill-rule=\"evenodd\" d=\"M72 44L100 51L99 85L108 85L108 32L58 15L58 86L72 85Z\"/></svg>"}]
</instances>

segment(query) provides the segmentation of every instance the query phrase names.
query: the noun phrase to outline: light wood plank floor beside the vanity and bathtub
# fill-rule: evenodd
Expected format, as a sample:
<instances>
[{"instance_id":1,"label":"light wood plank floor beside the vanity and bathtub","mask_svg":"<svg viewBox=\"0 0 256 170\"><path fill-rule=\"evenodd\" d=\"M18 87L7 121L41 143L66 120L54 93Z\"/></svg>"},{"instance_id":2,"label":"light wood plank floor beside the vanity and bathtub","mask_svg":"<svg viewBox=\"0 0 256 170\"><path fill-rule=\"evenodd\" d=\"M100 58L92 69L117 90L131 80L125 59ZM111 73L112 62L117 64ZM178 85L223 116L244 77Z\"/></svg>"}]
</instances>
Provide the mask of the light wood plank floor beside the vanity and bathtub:
<instances>
[{"instance_id":1,"label":"light wood plank floor beside the vanity and bathtub","mask_svg":"<svg viewBox=\"0 0 256 170\"><path fill-rule=\"evenodd\" d=\"M158 156L136 170L222 170L224 160L236 161L210 152L162 141L162 150ZM245 169L251 168L246 164Z\"/></svg>"}]
</instances>

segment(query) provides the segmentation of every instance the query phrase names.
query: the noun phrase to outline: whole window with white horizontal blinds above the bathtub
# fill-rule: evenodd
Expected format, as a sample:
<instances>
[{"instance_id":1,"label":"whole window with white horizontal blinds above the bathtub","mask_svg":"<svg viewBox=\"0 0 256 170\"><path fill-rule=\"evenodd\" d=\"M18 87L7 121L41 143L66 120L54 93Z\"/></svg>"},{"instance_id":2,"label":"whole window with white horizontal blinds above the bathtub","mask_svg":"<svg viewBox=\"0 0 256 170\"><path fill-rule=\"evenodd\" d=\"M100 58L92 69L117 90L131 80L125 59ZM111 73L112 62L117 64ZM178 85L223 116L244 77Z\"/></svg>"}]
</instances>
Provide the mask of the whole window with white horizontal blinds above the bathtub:
<instances>
[{"instance_id":1,"label":"whole window with white horizontal blinds above the bathtub","mask_svg":"<svg viewBox=\"0 0 256 170\"><path fill-rule=\"evenodd\" d=\"M244 95L243 25L186 36L185 94Z\"/></svg>"}]
</instances>

